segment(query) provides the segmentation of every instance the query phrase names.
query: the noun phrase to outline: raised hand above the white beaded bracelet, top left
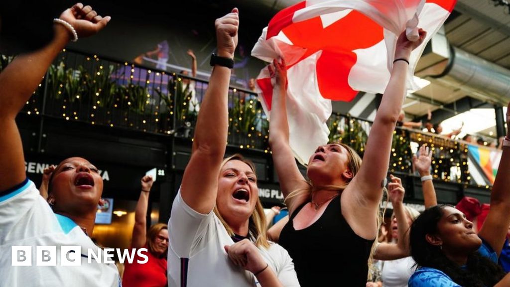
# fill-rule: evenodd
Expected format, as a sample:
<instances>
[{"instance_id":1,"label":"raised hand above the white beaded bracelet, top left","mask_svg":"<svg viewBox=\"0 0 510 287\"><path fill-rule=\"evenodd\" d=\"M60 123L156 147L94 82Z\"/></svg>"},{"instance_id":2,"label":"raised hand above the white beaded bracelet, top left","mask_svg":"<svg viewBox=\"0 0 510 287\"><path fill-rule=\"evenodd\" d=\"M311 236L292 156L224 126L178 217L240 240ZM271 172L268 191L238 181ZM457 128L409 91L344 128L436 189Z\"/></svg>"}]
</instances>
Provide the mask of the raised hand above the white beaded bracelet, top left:
<instances>
[{"instance_id":1,"label":"raised hand above the white beaded bracelet, top left","mask_svg":"<svg viewBox=\"0 0 510 287\"><path fill-rule=\"evenodd\" d=\"M110 16L102 17L98 15L92 7L89 5L84 7L82 3L74 4L74 6L62 12L59 18L68 22L79 38L96 34L105 28L111 19Z\"/></svg>"}]
</instances>

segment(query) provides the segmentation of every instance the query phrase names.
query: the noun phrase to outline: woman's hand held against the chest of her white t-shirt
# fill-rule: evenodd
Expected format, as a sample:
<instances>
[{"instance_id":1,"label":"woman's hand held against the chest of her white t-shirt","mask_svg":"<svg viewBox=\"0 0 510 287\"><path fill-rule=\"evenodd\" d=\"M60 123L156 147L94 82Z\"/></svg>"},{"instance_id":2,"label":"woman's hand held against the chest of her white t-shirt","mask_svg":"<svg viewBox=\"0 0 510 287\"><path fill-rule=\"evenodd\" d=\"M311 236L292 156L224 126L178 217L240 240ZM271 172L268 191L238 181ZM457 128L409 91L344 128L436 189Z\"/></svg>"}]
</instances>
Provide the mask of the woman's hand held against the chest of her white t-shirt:
<instances>
[{"instance_id":1,"label":"woman's hand held against the chest of her white t-shirt","mask_svg":"<svg viewBox=\"0 0 510 287\"><path fill-rule=\"evenodd\" d=\"M247 239L236 242L231 246L225 245L228 258L237 266L253 274L257 274L267 266L259 249ZM266 271L266 270L264 270Z\"/></svg>"}]
</instances>

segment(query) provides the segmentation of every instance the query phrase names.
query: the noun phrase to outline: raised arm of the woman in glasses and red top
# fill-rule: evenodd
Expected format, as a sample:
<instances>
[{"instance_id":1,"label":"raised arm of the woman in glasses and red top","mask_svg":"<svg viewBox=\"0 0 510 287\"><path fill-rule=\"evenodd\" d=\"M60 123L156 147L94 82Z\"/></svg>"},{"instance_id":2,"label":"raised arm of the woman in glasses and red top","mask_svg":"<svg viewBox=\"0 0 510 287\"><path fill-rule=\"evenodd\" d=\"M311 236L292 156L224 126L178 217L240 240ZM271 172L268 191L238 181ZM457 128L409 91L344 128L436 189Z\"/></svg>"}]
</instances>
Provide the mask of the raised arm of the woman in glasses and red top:
<instances>
[{"instance_id":1,"label":"raised arm of the woman in glasses and red top","mask_svg":"<svg viewBox=\"0 0 510 287\"><path fill-rule=\"evenodd\" d=\"M133 236L131 239L132 248L142 248L147 241L147 209L149 206L150 188L154 183L151 176L144 176L140 180L142 190L135 209L135 226L133 226Z\"/></svg>"}]
</instances>

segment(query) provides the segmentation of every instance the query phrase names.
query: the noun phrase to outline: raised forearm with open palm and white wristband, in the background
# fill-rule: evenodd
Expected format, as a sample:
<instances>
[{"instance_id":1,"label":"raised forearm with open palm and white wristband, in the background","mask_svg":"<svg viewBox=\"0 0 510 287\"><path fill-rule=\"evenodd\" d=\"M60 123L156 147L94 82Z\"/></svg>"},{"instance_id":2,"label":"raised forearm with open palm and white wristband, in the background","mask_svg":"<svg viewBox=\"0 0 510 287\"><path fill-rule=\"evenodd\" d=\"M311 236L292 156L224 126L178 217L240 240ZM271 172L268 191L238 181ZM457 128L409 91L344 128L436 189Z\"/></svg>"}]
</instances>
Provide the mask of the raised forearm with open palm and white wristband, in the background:
<instances>
[{"instance_id":1,"label":"raised forearm with open palm and white wristband, in the background","mask_svg":"<svg viewBox=\"0 0 510 287\"><path fill-rule=\"evenodd\" d=\"M432 162L432 150L428 150L425 145L420 147L420 156L413 155L413 164L421 177L421 187L423 190L423 201L425 208L438 205L436 189L430 175L430 164Z\"/></svg>"}]
</instances>

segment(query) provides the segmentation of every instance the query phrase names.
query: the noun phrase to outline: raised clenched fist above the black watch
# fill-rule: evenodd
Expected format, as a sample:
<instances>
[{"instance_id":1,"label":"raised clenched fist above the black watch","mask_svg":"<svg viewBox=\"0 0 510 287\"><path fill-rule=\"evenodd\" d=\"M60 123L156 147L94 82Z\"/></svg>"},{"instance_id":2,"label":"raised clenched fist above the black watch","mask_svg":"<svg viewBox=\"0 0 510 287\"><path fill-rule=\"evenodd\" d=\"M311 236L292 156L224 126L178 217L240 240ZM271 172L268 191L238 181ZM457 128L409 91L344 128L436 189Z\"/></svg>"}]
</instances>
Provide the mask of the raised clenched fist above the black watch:
<instances>
[{"instance_id":1,"label":"raised clenched fist above the black watch","mask_svg":"<svg viewBox=\"0 0 510 287\"><path fill-rule=\"evenodd\" d=\"M237 46L237 31L239 29L239 10L232 9L231 13L216 19L216 44L218 56L234 59Z\"/></svg>"}]
</instances>

